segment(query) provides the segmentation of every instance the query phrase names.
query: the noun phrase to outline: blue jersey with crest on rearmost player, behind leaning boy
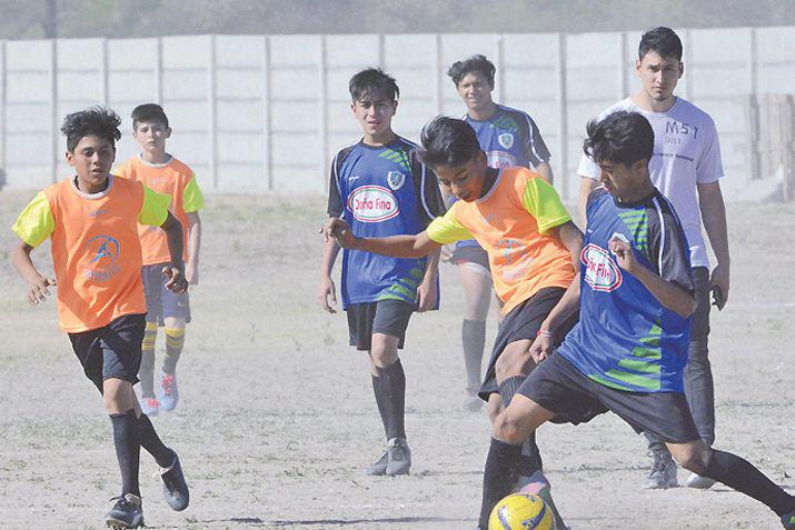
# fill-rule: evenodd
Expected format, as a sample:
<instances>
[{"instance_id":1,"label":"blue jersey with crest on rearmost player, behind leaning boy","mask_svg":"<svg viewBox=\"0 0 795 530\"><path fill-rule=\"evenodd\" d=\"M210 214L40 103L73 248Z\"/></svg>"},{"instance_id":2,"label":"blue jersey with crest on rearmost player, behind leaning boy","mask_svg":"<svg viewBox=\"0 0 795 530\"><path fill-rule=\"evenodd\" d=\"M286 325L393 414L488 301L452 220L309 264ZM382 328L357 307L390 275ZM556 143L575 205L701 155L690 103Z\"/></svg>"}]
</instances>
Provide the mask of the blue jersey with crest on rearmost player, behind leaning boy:
<instances>
[{"instance_id":1,"label":"blue jersey with crest on rearmost player, behind leaning boy","mask_svg":"<svg viewBox=\"0 0 795 530\"><path fill-rule=\"evenodd\" d=\"M521 166L534 169L549 161L549 150L538 126L526 112L497 104L497 111L488 120L474 120L467 114L464 121L475 129L480 149L491 168ZM477 246L474 239L456 243L456 247Z\"/></svg>"}]
</instances>

